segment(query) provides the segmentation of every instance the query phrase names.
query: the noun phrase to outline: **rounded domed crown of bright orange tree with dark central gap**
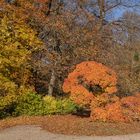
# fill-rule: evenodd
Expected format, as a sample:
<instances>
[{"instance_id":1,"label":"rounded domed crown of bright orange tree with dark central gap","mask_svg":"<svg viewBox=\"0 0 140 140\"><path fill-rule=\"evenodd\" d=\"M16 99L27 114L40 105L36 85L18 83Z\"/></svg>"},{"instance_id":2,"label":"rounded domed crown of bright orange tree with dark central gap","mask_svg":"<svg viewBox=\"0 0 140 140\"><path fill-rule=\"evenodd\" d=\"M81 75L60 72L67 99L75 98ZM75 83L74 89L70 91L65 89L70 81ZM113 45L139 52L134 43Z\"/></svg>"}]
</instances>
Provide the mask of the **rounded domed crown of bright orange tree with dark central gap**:
<instances>
[{"instance_id":1,"label":"rounded domed crown of bright orange tree with dark central gap","mask_svg":"<svg viewBox=\"0 0 140 140\"><path fill-rule=\"evenodd\" d=\"M63 84L63 91L80 105L90 106L97 96L110 95L117 91L117 76L110 68L95 61L78 64Z\"/></svg>"}]
</instances>

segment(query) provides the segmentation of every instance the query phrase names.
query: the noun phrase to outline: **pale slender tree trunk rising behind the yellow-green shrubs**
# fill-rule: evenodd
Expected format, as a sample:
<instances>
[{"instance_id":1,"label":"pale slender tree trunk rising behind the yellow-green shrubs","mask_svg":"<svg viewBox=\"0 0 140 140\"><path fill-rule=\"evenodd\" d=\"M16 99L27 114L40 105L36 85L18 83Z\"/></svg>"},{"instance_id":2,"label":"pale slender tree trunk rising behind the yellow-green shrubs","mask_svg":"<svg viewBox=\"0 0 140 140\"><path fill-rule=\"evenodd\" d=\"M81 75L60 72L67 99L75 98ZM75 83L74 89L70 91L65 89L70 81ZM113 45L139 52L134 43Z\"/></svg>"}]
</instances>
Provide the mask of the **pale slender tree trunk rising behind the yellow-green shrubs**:
<instances>
[{"instance_id":1,"label":"pale slender tree trunk rising behind the yellow-green shrubs","mask_svg":"<svg viewBox=\"0 0 140 140\"><path fill-rule=\"evenodd\" d=\"M54 90L54 86L55 86L55 80L56 80L56 76L55 76L55 70L52 70L51 73L51 79L50 79L50 83L48 86L48 95L49 96L53 96L53 90Z\"/></svg>"}]
</instances>

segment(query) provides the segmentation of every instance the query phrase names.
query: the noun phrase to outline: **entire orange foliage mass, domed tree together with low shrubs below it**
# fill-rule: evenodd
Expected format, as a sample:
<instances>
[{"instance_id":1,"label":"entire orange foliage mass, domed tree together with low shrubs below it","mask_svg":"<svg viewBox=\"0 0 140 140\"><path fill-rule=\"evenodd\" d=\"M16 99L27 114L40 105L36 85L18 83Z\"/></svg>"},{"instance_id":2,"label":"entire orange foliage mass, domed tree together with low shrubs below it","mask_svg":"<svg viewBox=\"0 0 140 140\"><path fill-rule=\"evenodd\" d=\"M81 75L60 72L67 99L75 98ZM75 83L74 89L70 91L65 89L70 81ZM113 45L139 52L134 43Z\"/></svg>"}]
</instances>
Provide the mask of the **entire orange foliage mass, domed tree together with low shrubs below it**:
<instances>
[{"instance_id":1,"label":"entire orange foliage mass, domed tree together with low shrubs below it","mask_svg":"<svg viewBox=\"0 0 140 140\"><path fill-rule=\"evenodd\" d=\"M120 99L117 76L95 61L78 64L63 84L63 91L79 105L88 105L94 121L131 122L140 120L140 93Z\"/></svg>"}]
</instances>

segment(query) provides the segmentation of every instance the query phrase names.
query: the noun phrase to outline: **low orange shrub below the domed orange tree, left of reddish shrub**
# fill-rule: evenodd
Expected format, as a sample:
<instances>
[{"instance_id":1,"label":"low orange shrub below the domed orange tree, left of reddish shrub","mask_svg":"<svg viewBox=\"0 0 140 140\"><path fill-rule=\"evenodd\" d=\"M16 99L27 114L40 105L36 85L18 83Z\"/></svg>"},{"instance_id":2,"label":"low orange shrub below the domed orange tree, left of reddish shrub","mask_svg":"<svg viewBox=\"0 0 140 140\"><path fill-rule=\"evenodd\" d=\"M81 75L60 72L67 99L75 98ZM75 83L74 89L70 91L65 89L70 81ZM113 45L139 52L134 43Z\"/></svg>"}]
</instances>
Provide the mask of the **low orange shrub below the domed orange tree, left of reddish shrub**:
<instances>
[{"instance_id":1,"label":"low orange shrub below the domed orange tree, left of reddish shrub","mask_svg":"<svg viewBox=\"0 0 140 140\"><path fill-rule=\"evenodd\" d=\"M114 97L97 97L91 103L90 117L94 121L111 121L126 122L119 98Z\"/></svg>"}]
</instances>

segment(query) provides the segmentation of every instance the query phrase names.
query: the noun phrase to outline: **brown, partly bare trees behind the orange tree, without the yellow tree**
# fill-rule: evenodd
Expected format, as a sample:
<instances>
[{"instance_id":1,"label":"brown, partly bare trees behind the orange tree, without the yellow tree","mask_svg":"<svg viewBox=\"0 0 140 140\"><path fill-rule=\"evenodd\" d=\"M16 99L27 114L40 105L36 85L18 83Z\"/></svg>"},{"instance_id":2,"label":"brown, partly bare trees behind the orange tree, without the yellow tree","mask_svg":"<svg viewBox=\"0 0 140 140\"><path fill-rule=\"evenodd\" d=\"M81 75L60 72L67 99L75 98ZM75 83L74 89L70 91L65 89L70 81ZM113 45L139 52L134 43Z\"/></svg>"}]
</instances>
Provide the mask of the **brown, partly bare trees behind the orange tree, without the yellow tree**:
<instances>
[{"instance_id":1,"label":"brown, partly bare trees behind the orange tree, without the yellow tree","mask_svg":"<svg viewBox=\"0 0 140 140\"><path fill-rule=\"evenodd\" d=\"M119 94L139 90L140 15L126 11L119 19L108 19L115 8L137 8L139 1L1 0L0 5L1 12L14 12L43 42L31 53L28 63L27 83L38 93L61 95L64 78L75 64L85 60L96 60L116 70ZM12 20L17 22L18 18ZM20 75L25 71L16 72Z\"/></svg>"}]
</instances>

